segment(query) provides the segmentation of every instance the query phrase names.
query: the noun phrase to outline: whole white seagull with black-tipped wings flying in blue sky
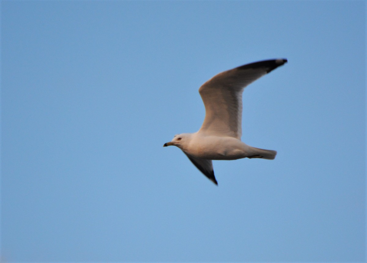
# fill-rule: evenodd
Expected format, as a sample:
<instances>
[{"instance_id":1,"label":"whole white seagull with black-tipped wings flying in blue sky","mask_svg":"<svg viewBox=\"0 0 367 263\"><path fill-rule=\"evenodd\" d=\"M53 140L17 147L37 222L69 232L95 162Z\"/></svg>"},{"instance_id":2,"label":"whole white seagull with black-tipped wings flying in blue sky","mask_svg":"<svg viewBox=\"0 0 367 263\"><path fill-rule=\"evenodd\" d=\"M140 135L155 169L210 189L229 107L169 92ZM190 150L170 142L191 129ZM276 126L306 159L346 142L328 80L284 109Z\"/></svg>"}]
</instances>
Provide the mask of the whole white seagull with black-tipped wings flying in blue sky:
<instances>
[{"instance_id":1,"label":"whole white seagull with black-tipped wings flying in blue sky","mask_svg":"<svg viewBox=\"0 0 367 263\"><path fill-rule=\"evenodd\" d=\"M205 82L199 93L205 118L196 133L182 133L163 147L180 148L190 161L214 184L212 160L262 158L273 160L276 151L251 147L241 141L242 93L256 79L287 63L287 59L253 62L219 73Z\"/></svg>"}]
</instances>

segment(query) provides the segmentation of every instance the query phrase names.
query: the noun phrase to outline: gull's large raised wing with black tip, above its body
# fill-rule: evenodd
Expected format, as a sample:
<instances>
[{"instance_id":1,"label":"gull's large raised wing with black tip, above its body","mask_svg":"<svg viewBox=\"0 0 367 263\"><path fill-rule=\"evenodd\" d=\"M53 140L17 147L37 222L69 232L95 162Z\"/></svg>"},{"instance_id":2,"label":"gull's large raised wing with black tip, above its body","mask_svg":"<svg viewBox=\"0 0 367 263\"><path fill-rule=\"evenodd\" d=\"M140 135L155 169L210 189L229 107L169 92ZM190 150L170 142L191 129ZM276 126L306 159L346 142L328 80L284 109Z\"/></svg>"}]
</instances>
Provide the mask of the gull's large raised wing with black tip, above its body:
<instances>
[{"instance_id":1,"label":"gull's large raised wing with black tip, above its body","mask_svg":"<svg viewBox=\"0 0 367 263\"><path fill-rule=\"evenodd\" d=\"M243 89L287 59L272 59L246 64L219 73L199 89L205 106L205 119L199 132L241 139Z\"/></svg>"}]
</instances>

